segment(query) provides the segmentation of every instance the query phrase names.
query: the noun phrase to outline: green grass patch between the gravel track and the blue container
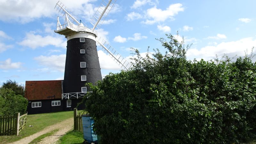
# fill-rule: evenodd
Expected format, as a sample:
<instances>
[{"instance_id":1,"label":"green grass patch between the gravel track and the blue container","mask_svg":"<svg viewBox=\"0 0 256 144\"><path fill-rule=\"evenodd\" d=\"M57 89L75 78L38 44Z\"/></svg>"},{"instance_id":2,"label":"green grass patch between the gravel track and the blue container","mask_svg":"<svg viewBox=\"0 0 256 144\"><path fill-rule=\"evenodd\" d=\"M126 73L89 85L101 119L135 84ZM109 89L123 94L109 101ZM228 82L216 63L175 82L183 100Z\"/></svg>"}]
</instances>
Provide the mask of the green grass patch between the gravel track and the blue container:
<instances>
[{"instance_id":1,"label":"green grass patch between the gravel track and the blue container","mask_svg":"<svg viewBox=\"0 0 256 144\"><path fill-rule=\"evenodd\" d=\"M58 144L82 144L84 142L83 132L71 131L60 137Z\"/></svg>"}]
</instances>

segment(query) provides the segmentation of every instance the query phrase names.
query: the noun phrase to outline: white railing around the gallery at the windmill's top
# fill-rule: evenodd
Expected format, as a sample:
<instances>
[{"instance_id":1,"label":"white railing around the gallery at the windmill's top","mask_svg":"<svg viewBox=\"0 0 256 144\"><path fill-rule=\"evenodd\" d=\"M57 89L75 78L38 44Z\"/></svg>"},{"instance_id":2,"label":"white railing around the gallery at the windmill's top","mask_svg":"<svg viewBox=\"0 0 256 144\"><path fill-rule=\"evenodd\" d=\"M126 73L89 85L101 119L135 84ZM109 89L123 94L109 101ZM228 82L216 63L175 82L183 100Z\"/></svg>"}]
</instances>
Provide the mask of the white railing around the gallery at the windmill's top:
<instances>
[{"instance_id":1,"label":"white railing around the gallery at the windmill's top","mask_svg":"<svg viewBox=\"0 0 256 144\"><path fill-rule=\"evenodd\" d=\"M74 30L74 31L77 31L77 32L87 32L87 33L92 33L94 34L95 36L97 36L97 31L93 28L87 28L87 27L79 27L73 23L65 23L63 25L60 25L57 27L57 31L60 31L64 28L69 28L71 30Z\"/></svg>"}]
</instances>

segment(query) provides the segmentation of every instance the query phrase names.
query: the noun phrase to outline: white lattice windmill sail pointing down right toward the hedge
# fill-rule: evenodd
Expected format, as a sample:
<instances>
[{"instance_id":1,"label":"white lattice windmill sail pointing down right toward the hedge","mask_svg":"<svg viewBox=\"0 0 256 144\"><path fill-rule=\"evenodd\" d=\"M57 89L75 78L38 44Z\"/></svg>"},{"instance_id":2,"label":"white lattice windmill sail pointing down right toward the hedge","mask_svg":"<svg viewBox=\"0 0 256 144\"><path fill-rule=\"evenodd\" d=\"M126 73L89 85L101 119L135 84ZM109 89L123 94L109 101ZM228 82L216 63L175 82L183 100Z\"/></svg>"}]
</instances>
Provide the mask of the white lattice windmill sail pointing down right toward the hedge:
<instances>
[{"instance_id":1,"label":"white lattice windmill sail pointing down right toward the hedge","mask_svg":"<svg viewBox=\"0 0 256 144\"><path fill-rule=\"evenodd\" d=\"M119 54L110 44L108 44L103 38L96 39L97 43L104 52L106 52L122 69L127 70L132 65L129 61Z\"/></svg>"}]
</instances>

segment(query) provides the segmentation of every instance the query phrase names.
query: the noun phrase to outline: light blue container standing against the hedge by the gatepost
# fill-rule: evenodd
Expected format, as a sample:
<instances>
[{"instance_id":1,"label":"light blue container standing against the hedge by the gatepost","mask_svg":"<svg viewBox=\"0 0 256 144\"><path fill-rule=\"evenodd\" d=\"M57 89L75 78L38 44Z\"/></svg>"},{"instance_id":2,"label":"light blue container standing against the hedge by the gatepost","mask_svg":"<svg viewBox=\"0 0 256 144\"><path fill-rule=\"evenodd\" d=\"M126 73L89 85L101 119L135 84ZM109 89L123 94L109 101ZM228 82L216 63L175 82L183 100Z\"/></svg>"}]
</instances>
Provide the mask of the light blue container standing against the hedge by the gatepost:
<instances>
[{"instance_id":1,"label":"light blue container standing against the hedge by the gatepost","mask_svg":"<svg viewBox=\"0 0 256 144\"><path fill-rule=\"evenodd\" d=\"M93 132L92 124L94 123L94 120L89 115L82 115L82 121L83 121L83 132L84 132L84 140L87 140L87 142L92 143L97 141L97 135L95 132Z\"/></svg>"}]
</instances>

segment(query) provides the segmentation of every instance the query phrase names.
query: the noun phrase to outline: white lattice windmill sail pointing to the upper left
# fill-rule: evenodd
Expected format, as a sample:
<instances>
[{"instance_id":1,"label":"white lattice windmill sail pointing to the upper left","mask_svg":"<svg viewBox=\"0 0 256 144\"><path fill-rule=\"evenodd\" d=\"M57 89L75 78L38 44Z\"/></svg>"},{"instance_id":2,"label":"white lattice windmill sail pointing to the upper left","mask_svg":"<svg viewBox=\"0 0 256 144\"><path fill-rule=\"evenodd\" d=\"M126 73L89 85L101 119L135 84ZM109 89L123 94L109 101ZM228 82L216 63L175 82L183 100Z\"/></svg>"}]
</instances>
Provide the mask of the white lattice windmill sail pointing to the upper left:
<instances>
[{"instance_id":1,"label":"white lattice windmill sail pointing to the upper left","mask_svg":"<svg viewBox=\"0 0 256 144\"><path fill-rule=\"evenodd\" d=\"M71 23L73 24L79 24L79 22L77 21L77 18L74 17L74 15L72 16L70 13L68 13L68 8L62 4L60 1L58 1L58 3L55 5L54 9L59 12L59 14L66 19L66 15L68 17L68 20L70 20ZM67 21L68 22L68 21Z\"/></svg>"}]
</instances>

